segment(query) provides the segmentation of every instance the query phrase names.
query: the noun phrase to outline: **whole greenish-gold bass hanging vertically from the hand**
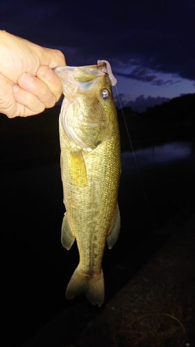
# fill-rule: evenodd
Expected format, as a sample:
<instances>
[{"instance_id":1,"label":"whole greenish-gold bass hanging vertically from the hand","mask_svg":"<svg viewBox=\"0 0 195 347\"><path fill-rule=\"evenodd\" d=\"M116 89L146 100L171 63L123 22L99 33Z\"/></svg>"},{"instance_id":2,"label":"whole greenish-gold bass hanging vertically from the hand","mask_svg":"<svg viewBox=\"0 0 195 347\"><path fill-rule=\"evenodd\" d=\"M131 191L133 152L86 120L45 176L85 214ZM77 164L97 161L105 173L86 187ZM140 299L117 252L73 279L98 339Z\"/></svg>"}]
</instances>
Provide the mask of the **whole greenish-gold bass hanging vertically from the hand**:
<instances>
[{"instance_id":1,"label":"whole greenish-gold bass hanging vertically from the hand","mask_svg":"<svg viewBox=\"0 0 195 347\"><path fill-rule=\"evenodd\" d=\"M101 306L105 243L112 248L120 229L121 149L112 95L116 80L106 60L84 67L56 67L55 72L65 96L59 117L66 210L61 242L69 250L76 239L79 252L66 298L85 294L90 303Z\"/></svg>"}]
</instances>

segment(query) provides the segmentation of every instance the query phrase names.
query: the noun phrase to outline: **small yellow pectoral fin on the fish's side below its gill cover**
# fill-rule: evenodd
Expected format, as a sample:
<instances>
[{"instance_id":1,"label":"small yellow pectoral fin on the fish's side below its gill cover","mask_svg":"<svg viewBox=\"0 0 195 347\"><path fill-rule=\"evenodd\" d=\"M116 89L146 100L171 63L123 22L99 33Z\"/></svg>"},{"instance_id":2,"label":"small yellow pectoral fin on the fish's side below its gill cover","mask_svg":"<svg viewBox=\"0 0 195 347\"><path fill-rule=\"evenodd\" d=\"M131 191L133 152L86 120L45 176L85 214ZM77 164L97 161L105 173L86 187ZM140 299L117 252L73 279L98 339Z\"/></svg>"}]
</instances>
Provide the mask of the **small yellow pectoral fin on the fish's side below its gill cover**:
<instances>
[{"instance_id":1,"label":"small yellow pectoral fin on the fish's side below its gill cover","mask_svg":"<svg viewBox=\"0 0 195 347\"><path fill-rule=\"evenodd\" d=\"M69 175L76 187L84 188L87 186L87 170L82 151L72 152L70 154Z\"/></svg>"}]
</instances>

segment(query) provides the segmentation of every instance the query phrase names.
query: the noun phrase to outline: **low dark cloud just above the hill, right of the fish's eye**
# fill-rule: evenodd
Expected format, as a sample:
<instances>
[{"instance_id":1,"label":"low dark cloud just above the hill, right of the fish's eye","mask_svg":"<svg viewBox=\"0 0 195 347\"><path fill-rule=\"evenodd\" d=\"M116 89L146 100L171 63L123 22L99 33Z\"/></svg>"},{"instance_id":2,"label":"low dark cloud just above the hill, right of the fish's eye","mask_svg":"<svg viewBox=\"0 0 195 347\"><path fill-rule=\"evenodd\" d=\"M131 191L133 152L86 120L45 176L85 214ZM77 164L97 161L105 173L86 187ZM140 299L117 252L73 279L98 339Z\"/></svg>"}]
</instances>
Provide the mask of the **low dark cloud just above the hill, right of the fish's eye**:
<instances>
[{"instance_id":1,"label":"low dark cloud just above the hill, right of the fish's eye","mask_svg":"<svg viewBox=\"0 0 195 347\"><path fill-rule=\"evenodd\" d=\"M138 112L144 112L146 108L153 107L155 105L160 105L161 103L167 102L170 99L157 96L148 96L147 98L144 97L144 95L139 95L135 101L129 100L129 96L127 94L119 94L119 98L121 100L121 105L123 107L131 107L133 110ZM117 97L115 98L115 103L118 108L120 108L119 101Z\"/></svg>"}]
</instances>

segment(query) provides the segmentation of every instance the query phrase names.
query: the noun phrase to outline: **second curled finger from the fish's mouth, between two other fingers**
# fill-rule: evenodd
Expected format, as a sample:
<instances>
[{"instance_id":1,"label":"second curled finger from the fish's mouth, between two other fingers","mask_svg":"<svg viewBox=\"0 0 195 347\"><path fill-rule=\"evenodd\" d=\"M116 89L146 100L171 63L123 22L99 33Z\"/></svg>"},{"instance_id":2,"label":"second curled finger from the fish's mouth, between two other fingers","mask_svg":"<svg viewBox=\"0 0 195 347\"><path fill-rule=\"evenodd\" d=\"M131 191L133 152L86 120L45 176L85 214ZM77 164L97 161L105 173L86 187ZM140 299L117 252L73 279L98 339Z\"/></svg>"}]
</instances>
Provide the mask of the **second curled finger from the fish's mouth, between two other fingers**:
<instances>
[{"instance_id":1,"label":"second curled finger from the fish's mouth, between two other fingers","mask_svg":"<svg viewBox=\"0 0 195 347\"><path fill-rule=\"evenodd\" d=\"M31 74L22 74L19 76L18 85L22 90L33 94L45 105L46 108L51 108L56 103L56 96L49 90L48 85ZM28 95L28 94L26 94Z\"/></svg>"}]
</instances>

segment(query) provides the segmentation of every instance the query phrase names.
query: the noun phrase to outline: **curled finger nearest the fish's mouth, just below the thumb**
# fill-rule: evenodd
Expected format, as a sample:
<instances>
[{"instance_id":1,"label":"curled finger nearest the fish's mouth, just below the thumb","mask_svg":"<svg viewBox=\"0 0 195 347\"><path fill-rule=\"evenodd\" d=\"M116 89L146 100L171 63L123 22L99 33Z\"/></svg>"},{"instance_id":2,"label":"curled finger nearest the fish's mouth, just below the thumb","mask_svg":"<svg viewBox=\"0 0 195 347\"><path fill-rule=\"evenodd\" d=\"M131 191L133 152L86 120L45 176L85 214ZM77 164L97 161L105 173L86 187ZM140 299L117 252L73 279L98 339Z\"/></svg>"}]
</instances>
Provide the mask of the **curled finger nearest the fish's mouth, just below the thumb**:
<instances>
[{"instance_id":1,"label":"curled finger nearest the fish's mouth, just below the thumb","mask_svg":"<svg viewBox=\"0 0 195 347\"><path fill-rule=\"evenodd\" d=\"M56 96L56 101L58 101L62 95L62 83L55 72L42 65L37 69L37 77L46 83L52 94Z\"/></svg>"}]
</instances>

